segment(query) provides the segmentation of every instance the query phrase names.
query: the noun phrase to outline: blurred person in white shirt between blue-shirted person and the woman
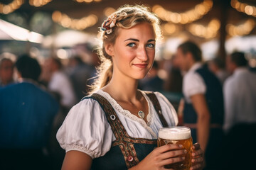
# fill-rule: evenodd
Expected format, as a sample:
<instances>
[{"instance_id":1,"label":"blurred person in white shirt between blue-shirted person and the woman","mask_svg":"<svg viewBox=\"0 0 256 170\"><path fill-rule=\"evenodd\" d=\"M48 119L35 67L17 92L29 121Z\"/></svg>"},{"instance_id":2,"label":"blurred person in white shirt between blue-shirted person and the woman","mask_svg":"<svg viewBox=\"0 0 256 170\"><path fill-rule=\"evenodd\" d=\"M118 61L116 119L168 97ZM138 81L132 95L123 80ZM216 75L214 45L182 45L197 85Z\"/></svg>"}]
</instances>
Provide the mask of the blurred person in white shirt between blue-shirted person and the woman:
<instances>
[{"instance_id":1,"label":"blurred person in white shirt between blue-shirted person and the woman","mask_svg":"<svg viewBox=\"0 0 256 170\"><path fill-rule=\"evenodd\" d=\"M50 58L49 69L52 75L48 83L48 89L59 96L60 105L63 111L67 113L76 102L73 86L68 76L63 73L63 64L58 58Z\"/></svg>"}]
</instances>

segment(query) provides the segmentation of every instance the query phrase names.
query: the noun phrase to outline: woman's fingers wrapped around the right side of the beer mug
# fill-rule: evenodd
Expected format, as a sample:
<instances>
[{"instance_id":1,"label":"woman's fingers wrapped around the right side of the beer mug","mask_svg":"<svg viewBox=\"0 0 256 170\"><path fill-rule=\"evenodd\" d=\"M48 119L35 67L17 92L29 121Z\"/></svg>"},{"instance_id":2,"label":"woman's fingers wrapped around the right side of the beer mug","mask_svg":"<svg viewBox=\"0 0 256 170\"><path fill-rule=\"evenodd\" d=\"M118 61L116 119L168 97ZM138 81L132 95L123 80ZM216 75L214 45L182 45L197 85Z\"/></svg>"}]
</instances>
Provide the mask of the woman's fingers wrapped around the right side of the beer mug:
<instances>
[{"instance_id":1,"label":"woman's fingers wrapped around the right side of the beer mug","mask_svg":"<svg viewBox=\"0 0 256 170\"><path fill-rule=\"evenodd\" d=\"M191 170L203 169L203 150L198 143L195 143L192 147L192 167Z\"/></svg>"}]
</instances>

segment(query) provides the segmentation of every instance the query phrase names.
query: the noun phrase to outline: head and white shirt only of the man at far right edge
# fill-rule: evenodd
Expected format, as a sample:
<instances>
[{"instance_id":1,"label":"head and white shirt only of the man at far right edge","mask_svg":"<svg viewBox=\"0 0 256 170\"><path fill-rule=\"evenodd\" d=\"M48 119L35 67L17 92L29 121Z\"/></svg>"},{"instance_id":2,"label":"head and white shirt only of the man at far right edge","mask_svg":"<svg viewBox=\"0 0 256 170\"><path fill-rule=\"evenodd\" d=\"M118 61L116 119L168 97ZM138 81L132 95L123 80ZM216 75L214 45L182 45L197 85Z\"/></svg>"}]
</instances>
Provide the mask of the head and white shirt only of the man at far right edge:
<instances>
[{"instance_id":1,"label":"head and white shirt only of the man at far right edge","mask_svg":"<svg viewBox=\"0 0 256 170\"><path fill-rule=\"evenodd\" d=\"M256 123L256 73L247 67L242 52L234 52L226 60L228 77L223 86L226 132L238 123Z\"/></svg>"}]
</instances>

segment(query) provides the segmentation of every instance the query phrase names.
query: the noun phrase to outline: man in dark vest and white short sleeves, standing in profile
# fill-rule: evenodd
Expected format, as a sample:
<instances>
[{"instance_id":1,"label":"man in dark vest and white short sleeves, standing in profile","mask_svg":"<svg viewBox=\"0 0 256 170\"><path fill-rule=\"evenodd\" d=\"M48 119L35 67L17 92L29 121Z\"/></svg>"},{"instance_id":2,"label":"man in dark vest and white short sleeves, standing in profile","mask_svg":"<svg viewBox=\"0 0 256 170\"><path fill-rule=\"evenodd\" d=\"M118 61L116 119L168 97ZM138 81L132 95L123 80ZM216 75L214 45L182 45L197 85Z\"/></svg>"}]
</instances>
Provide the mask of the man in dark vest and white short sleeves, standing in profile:
<instances>
[{"instance_id":1,"label":"man in dark vest and white short sleeves, standing in profile","mask_svg":"<svg viewBox=\"0 0 256 170\"><path fill-rule=\"evenodd\" d=\"M178 46L176 57L183 77L183 123L191 128L193 142L206 152L206 169L218 169L223 137L223 91L220 81L202 64L202 53L194 42ZM216 161L217 160L217 161Z\"/></svg>"}]
</instances>

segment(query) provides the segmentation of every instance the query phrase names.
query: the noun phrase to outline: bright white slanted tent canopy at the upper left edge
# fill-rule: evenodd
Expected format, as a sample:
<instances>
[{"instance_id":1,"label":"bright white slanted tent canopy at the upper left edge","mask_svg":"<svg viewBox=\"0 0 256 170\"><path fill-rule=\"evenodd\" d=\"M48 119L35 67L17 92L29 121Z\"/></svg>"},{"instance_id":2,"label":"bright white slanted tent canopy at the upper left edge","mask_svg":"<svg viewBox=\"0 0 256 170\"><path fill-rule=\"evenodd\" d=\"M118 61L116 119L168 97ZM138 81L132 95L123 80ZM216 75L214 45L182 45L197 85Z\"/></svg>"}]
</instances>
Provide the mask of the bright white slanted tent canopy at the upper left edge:
<instances>
[{"instance_id":1,"label":"bright white slanted tent canopy at the upper left edge","mask_svg":"<svg viewBox=\"0 0 256 170\"><path fill-rule=\"evenodd\" d=\"M0 19L0 40L21 40L41 43L43 35Z\"/></svg>"}]
</instances>

